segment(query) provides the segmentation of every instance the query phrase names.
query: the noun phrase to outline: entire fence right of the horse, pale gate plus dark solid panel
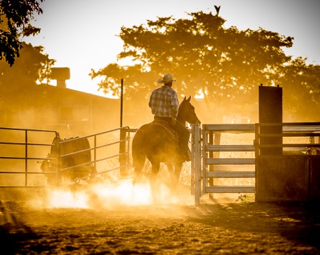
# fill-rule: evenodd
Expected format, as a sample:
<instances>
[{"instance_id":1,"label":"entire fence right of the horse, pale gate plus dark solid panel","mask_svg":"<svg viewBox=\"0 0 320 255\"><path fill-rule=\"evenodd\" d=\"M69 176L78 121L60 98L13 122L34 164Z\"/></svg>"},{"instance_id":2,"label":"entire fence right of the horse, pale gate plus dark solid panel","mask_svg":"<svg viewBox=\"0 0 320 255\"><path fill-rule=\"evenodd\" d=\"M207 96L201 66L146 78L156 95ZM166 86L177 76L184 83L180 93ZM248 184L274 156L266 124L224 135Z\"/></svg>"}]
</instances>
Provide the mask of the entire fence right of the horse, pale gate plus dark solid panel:
<instances>
[{"instance_id":1,"label":"entire fence right of the horse, pale gate plus dark solid panel","mask_svg":"<svg viewBox=\"0 0 320 255\"><path fill-rule=\"evenodd\" d=\"M281 132L261 132L265 126L280 127ZM220 135L223 133L252 134L252 143L223 145L220 141ZM280 143L275 144L273 138L280 138ZM279 148L281 154L261 154L261 150L273 148ZM318 153L310 155L310 148L317 148ZM199 204L200 197L207 193L209 195L213 193L254 193L256 199L259 195L259 201L301 199L299 192L289 194L287 197L280 196L279 194L283 193L281 190L285 190L289 185L285 186L285 183L291 183L296 190L299 190L298 188L304 190L306 195L303 199L305 200L320 198L320 174L318 174L320 169L316 169L320 165L319 148L320 122L203 124L202 129L198 124L193 124L191 192L192 195L195 195L195 204ZM223 158L221 154L224 151L235 152L235 154L244 151L251 153L252 156L250 158ZM292 158L299 160L300 165L292 165ZM278 163L275 164L275 162ZM221 166L236 169L237 165L254 165L254 171L219 169ZM297 174L294 175L294 172ZM299 174L300 172L303 173ZM254 178L254 186L221 186L215 182L219 178ZM270 190L272 180L277 184L273 183L275 186L273 190ZM275 189L279 192L275 192Z\"/></svg>"}]
</instances>

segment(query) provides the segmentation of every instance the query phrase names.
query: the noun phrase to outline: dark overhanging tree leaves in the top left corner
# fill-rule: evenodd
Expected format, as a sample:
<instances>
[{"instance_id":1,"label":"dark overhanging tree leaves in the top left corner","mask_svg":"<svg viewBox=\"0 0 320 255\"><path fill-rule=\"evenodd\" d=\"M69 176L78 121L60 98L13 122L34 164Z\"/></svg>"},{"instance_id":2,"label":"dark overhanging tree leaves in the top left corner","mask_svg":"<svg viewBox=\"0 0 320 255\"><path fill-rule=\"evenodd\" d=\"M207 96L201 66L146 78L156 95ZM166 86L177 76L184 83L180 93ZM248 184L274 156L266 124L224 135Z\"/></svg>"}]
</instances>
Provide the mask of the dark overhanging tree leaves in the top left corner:
<instances>
[{"instance_id":1,"label":"dark overhanging tree leaves in the top left corner","mask_svg":"<svg viewBox=\"0 0 320 255\"><path fill-rule=\"evenodd\" d=\"M21 35L35 35L40 32L40 28L29 24L33 19L33 13L43 13L36 0L0 1L0 60L6 60L10 66L15 63L15 58L20 56L23 47Z\"/></svg>"}]
</instances>

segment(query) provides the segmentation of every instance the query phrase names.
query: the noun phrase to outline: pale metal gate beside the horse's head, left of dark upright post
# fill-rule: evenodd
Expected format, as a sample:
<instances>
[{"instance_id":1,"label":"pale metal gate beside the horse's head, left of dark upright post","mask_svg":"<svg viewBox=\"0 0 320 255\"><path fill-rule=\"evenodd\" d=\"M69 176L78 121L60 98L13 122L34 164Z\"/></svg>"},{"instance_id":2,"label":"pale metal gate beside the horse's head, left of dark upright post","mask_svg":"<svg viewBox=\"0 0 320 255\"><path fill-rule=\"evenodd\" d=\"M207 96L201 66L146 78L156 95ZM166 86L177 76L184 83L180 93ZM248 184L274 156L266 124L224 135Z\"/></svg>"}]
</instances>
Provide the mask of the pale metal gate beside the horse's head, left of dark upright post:
<instances>
[{"instance_id":1,"label":"pale metal gate beside the horse's head, left of dark upright post","mask_svg":"<svg viewBox=\"0 0 320 255\"><path fill-rule=\"evenodd\" d=\"M207 193L210 197L213 193L254 193L252 183L238 186L220 181L254 179L254 124L203 124L201 129L192 125L192 155L195 204Z\"/></svg>"}]
</instances>

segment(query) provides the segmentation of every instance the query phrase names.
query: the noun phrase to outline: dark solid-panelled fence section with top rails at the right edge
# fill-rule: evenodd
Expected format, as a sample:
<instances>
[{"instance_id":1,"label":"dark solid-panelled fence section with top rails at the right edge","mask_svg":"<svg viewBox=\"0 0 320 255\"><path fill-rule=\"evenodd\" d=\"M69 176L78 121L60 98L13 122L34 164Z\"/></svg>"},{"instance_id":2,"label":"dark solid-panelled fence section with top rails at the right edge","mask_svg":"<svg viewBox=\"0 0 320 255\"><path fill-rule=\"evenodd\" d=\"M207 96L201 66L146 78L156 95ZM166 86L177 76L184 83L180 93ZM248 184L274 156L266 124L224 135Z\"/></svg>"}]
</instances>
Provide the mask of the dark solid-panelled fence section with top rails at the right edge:
<instances>
[{"instance_id":1,"label":"dark solid-panelled fence section with top rails at the right edge","mask_svg":"<svg viewBox=\"0 0 320 255\"><path fill-rule=\"evenodd\" d=\"M320 122L256 124L256 201L320 199Z\"/></svg>"}]
</instances>

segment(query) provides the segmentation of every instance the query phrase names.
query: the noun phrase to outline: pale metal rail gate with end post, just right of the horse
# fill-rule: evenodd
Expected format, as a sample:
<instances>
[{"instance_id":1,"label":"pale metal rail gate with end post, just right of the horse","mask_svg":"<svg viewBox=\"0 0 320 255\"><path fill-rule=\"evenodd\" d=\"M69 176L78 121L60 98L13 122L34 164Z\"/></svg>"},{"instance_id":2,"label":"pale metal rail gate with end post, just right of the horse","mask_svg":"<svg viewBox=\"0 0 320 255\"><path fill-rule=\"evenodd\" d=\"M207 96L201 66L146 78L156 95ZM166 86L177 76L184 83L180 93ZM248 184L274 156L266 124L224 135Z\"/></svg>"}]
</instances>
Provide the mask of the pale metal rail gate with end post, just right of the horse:
<instances>
[{"instance_id":1,"label":"pale metal rail gate with end post, just right of the horse","mask_svg":"<svg viewBox=\"0 0 320 255\"><path fill-rule=\"evenodd\" d=\"M252 133L252 143L249 145L221 145L221 133ZM252 153L252 158L223 158L222 151L246 151ZM254 186L224 186L217 185L215 179L221 178L255 178L252 170L221 171L218 166L236 168L236 165L254 165L254 124L198 124L192 125L192 193L195 204L199 204L201 195L206 193L254 193ZM248 167L249 168L249 167Z\"/></svg>"}]
</instances>

